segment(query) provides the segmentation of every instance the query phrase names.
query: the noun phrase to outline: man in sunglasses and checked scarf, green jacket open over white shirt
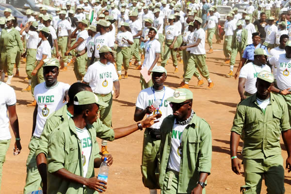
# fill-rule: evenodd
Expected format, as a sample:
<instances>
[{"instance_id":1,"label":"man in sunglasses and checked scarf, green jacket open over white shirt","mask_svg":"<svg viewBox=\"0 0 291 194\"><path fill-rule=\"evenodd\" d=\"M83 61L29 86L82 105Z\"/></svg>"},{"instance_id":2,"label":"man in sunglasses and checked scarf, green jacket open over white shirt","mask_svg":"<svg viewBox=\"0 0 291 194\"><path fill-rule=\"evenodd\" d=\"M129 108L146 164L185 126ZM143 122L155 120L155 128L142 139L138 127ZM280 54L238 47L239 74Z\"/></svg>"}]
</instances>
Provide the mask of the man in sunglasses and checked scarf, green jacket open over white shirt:
<instances>
[{"instance_id":1,"label":"man in sunglasses and checked scarf, green jacket open over white shirt","mask_svg":"<svg viewBox=\"0 0 291 194\"><path fill-rule=\"evenodd\" d=\"M161 125L161 194L205 194L211 168L211 129L192 110L193 93L176 89L168 97L173 115Z\"/></svg>"}]
</instances>

